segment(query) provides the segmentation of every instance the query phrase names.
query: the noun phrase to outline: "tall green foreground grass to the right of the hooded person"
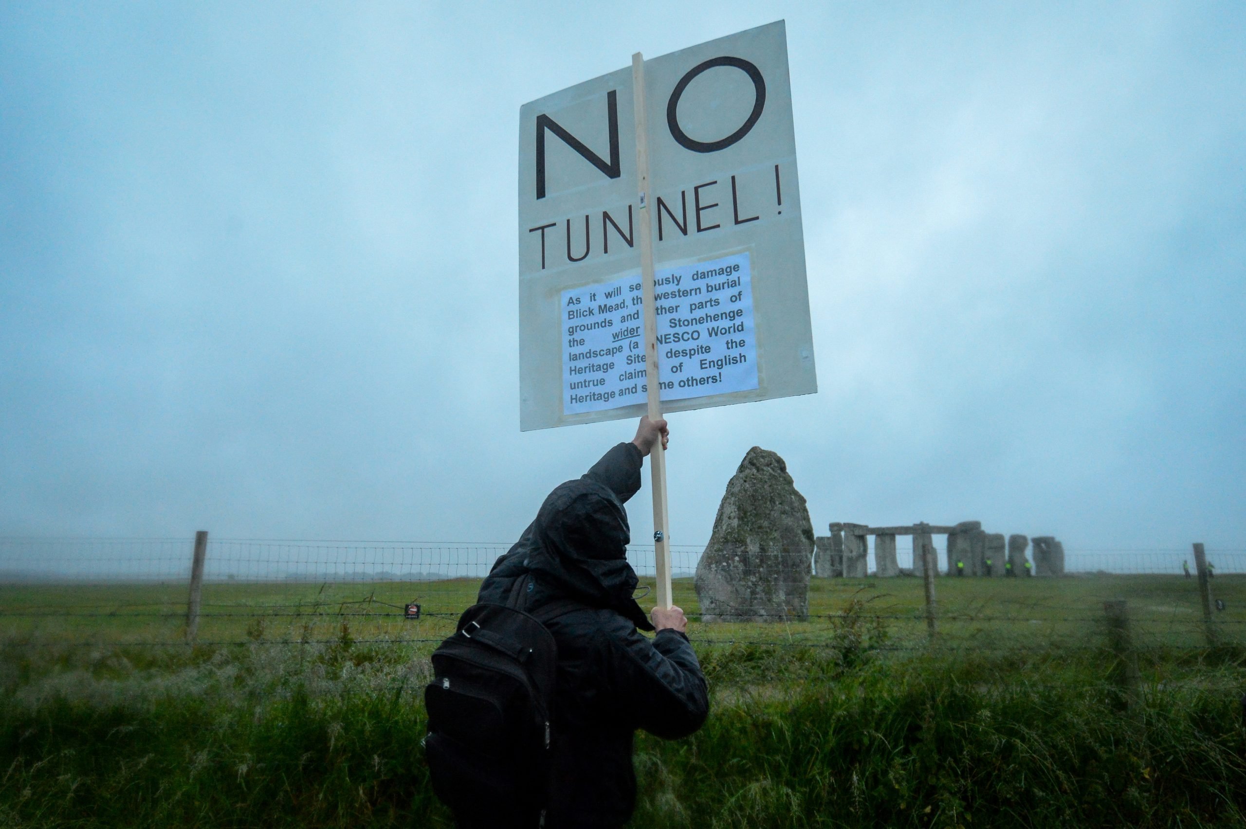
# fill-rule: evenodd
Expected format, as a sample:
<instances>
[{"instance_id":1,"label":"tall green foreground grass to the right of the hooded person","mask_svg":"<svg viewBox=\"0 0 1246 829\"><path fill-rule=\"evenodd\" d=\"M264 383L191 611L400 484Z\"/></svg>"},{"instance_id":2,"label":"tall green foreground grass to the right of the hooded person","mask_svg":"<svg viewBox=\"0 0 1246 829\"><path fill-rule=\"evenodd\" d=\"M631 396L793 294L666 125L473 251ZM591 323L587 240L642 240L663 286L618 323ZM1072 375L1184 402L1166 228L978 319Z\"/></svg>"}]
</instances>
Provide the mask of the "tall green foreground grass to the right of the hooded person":
<instances>
[{"instance_id":1,"label":"tall green foreground grass to the right of the hooded person","mask_svg":"<svg viewBox=\"0 0 1246 829\"><path fill-rule=\"evenodd\" d=\"M1197 680L1153 673L1126 707L1063 657L844 670L725 652L710 673L721 660L738 673L740 656L766 667L720 691L706 728L639 741L635 825L1246 825L1236 657Z\"/></svg>"}]
</instances>

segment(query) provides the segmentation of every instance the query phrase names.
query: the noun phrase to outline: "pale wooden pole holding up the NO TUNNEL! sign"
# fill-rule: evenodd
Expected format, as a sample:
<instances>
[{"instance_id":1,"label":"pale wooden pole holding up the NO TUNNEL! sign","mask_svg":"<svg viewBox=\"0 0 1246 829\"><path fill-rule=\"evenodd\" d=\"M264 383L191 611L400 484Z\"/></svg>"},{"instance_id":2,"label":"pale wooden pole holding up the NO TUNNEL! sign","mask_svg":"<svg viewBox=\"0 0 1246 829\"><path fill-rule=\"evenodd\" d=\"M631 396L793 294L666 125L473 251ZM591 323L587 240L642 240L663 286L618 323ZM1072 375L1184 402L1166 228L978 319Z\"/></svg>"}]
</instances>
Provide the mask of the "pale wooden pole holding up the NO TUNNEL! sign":
<instances>
[{"instance_id":1,"label":"pale wooden pole holding up the NO TUNNEL! sign","mask_svg":"<svg viewBox=\"0 0 1246 829\"><path fill-rule=\"evenodd\" d=\"M658 315L653 299L653 222L648 207L649 132L644 106L644 56L632 56L632 90L635 106L635 176L640 195L640 290L644 300L644 382L648 386L649 419L662 417L662 388L658 386ZM667 524L667 453L662 441L649 453L653 475L653 558L657 566L658 606L670 606L670 529Z\"/></svg>"}]
</instances>

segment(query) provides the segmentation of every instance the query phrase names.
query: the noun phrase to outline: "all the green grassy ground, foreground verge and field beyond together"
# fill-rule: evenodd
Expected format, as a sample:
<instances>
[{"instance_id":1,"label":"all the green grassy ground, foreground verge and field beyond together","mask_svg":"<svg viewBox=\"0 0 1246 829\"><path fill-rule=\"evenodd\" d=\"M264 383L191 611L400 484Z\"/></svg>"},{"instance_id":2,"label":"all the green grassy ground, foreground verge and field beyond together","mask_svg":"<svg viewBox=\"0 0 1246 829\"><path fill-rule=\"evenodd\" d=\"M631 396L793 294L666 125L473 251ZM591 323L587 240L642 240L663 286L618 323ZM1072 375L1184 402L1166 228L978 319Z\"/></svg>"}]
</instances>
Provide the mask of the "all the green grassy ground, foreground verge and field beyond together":
<instances>
[{"instance_id":1,"label":"all the green grassy ground, foreground verge and field beyond together","mask_svg":"<svg viewBox=\"0 0 1246 829\"><path fill-rule=\"evenodd\" d=\"M476 585L209 584L194 647L184 585L0 588L0 827L449 827L421 693ZM937 589L933 645L917 579L815 580L802 622L694 621L711 716L638 738L632 825L1246 825L1246 578L1214 581L1214 647L1194 580ZM695 620L689 580L675 597Z\"/></svg>"}]
</instances>

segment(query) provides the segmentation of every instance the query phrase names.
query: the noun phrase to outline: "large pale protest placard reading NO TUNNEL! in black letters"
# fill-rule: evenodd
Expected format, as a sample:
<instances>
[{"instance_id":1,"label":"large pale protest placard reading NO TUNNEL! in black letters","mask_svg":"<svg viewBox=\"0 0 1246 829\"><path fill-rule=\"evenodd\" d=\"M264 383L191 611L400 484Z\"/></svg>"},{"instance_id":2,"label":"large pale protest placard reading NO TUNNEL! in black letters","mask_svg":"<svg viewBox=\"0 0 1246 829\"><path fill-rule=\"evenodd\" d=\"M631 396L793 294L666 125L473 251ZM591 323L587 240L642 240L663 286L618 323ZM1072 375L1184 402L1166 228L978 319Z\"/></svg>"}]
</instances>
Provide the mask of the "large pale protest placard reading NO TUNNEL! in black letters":
<instances>
[{"instance_id":1,"label":"large pale protest placard reading NO TUNNEL! in black letters","mask_svg":"<svg viewBox=\"0 0 1246 829\"><path fill-rule=\"evenodd\" d=\"M639 310L639 302L630 305L630 293L633 285L639 288L640 222L653 230L659 283L663 275L680 274L688 284L698 266L739 258L746 285L741 301L749 299L739 317L748 320L746 349L728 347L724 336L720 344L708 344L710 355L690 357L677 354L674 344L662 344L664 412L817 391L782 21L645 61L644 78L650 171L644 205L637 193L630 68L521 108L522 429L643 413L643 376L619 380L627 373L617 371L619 366L581 371L573 365L579 361L571 358L577 350L568 345L576 337L586 342L581 350L608 351L609 336L619 330L614 326ZM607 326L612 331L567 332L568 299L584 304L621 284L628 305L601 312L612 321ZM639 299L639 290L635 294ZM698 300L668 296L658 305L693 301ZM598 304L592 304L594 314ZM710 309L699 311L704 316ZM694 316L690 310L688 315ZM659 335L673 334L663 326L675 316L658 309ZM642 320L639 314L634 325L643 326ZM706 325L716 321L690 327L705 337ZM638 337L635 344L639 357L643 342ZM612 358L622 356L625 363L628 354ZM746 360L713 371L706 362L701 368L703 360L736 355ZM680 377L682 372L687 373ZM711 375L718 380L705 380ZM579 382L589 378L606 382ZM680 386L685 378L689 385ZM634 391L633 381L639 381Z\"/></svg>"}]
</instances>

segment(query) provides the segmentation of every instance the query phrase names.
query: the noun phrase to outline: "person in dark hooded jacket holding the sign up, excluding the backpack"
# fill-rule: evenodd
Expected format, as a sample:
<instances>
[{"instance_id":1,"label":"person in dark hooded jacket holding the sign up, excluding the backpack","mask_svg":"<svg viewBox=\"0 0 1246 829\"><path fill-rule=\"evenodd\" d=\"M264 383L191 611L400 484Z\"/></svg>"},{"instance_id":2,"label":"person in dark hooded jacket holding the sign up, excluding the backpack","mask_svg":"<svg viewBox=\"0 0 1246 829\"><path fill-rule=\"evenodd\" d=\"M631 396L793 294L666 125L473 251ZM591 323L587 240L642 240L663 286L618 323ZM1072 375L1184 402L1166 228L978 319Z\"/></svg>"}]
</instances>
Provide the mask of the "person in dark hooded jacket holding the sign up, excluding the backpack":
<instances>
[{"instance_id":1,"label":"person in dark hooded jacket holding the sign up, excluding the backpack","mask_svg":"<svg viewBox=\"0 0 1246 829\"><path fill-rule=\"evenodd\" d=\"M558 645L548 829L622 827L635 807L635 729L687 737L709 712L683 610L654 607L650 624L632 597L623 504L640 488L644 457L659 439L665 448L667 422L644 417L630 443L556 487L480 589L482 602L523 594L527 612L568 599L583 605L546 622ZM657 632L649 639L642 630Z\"/></svg>"}]
</instances>

